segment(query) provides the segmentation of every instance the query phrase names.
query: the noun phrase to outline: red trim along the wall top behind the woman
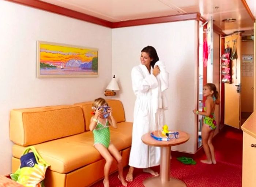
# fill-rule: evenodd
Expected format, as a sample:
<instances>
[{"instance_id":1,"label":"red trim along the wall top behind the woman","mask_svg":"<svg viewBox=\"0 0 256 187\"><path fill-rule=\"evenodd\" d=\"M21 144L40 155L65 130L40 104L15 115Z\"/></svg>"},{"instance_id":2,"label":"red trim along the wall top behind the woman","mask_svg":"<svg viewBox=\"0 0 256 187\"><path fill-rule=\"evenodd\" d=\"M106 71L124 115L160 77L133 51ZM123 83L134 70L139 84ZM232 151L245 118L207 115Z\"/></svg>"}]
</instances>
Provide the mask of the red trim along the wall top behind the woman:
<instances>
[{"instance_id":1,"label":"red trim along the wall top behind the woman","mask_svg":"<svg viewBox=\"0 0 256 187\"><path fill-rule=\"evenodd\" d=\"M147 19L114 22L112 24L112 28L130 27L130 26L146 25L146 24L154 24L154 23L166 23L166 22L173 22L173 21L199 20L199 18L200 18L200 13L187 13L187 14L179 14L179 15L173 15L173 16L153 17L153 18L147 18Z\"/></svg>"}]
</instances>

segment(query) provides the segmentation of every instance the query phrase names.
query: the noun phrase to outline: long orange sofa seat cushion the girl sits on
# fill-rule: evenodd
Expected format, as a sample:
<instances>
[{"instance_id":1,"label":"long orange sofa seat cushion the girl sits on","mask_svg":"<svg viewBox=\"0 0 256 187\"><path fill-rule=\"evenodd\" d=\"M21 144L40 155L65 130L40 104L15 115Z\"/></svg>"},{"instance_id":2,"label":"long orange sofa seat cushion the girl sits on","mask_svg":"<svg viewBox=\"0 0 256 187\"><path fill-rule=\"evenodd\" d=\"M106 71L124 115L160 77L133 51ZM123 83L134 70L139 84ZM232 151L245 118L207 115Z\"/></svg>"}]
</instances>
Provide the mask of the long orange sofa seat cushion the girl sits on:
<instances>
[{"instance_id":1,"label":"long orange sofa seat cushion the girl sits on","mask_svg":"<svg viewBox=\"0 0 256 187\"><path fill-rule=\"evenodd\" d=\"M131 147L132 123L122 122L117 124L117 129L110 128L111 142L118 151ZM103 159L93 147L93 132L68 136L49 142L34 145L42 158L50 164L49 169L59 173L68 173L80 167ZM12 155L20 158L26 147L12 146Z\"/></svg>"}]
</instances>

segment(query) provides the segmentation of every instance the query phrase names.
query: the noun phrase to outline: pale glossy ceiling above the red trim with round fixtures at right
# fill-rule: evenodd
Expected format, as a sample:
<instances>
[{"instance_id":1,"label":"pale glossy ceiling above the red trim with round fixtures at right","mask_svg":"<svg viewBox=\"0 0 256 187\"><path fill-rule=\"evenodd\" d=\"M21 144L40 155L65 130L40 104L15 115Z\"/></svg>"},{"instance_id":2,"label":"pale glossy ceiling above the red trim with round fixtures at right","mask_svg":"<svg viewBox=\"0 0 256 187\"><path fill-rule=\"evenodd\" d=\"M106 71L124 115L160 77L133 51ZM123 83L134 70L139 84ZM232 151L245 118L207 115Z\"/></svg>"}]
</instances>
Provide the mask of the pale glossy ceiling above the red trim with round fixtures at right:
<instances>
[{"instance_id":1,"label":"pale glossy ceiling above the red trim with round fixtures at right","mask_svg":"<svg viewBox=\"0 0 256 187\"><path fill-rule=\"evenodd\" d=\"M151 17L170 16L199 12L208 20L212 16L214 24L230 34L245 30L245 35L253 35L253 20L246 11L242 0L41 0L103 20L118 22ZM246 0L253 15L256 14L255 0ZM218 7L218 8L216 8ZM234 18L233 23L223 23L223 19Z\"/></svg>"}]
</instances>

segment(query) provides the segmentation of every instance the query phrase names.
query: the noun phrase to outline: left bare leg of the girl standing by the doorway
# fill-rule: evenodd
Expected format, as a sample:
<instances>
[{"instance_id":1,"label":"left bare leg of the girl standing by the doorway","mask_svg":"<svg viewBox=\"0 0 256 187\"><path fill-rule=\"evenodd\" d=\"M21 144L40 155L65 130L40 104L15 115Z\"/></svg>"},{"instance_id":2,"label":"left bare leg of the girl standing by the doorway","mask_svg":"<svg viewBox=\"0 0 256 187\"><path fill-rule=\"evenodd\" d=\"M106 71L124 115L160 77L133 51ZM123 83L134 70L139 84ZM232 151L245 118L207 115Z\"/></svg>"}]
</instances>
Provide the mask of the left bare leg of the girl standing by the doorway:
<instances>
[{"instance_id":1,"label":"left bare leg of the girl standing by the doorway","mask_svg":"<svg viewBox=\"0 0 256 187\"><path fill-rule=\"evenodd\" d=\"M210 148L208 146L208 139L209 139L210 131L211 131L210 127L207 126L206 124L203 124L202 143L203 143L204 153L206 154L207 160L200 160L200 161L205 164L212 164Z\"/></svg>"}]
</instances>

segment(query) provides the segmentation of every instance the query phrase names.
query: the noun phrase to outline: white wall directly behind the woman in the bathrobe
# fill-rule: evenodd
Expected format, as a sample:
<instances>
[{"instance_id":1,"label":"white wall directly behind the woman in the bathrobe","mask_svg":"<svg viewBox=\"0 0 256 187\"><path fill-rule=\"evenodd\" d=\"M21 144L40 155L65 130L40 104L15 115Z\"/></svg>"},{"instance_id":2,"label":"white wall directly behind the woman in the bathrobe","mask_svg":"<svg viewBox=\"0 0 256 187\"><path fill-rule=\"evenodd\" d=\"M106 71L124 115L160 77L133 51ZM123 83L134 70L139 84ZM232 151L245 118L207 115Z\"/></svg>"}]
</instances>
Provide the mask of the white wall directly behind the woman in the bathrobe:
<instances>
[{"instance_id":1,"label":"white wall directly behind the woman in the bathrobe","mask_svg":"<svg viewBox=\"0 0 256 187\"><path fill-rule=\"evenodd\" d=\"M140 51L147 45L157 49L170 73L167 91L169 110L166 122L170 129L188 132L190 140L173 150L196 151L197 123L192 110L197 106L197 21L117 28L112 31L112 74L121 91L118 97L125 108L127 121L133 121L135 95L131 69L140 64Z\"/></svg>"}]
</instances>

